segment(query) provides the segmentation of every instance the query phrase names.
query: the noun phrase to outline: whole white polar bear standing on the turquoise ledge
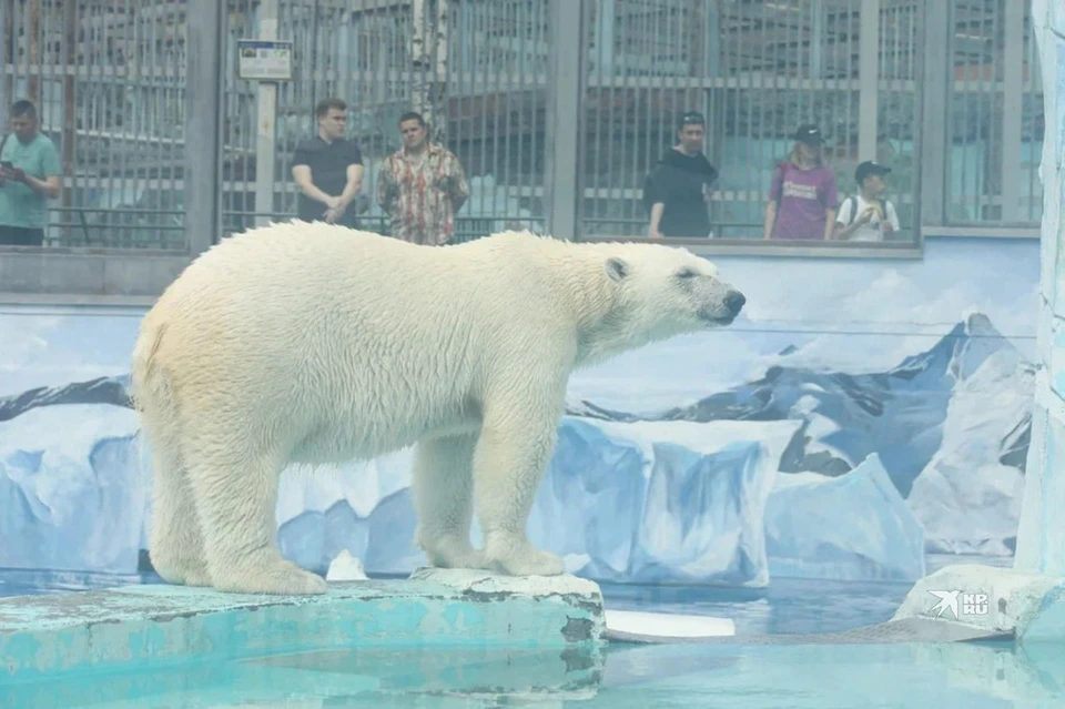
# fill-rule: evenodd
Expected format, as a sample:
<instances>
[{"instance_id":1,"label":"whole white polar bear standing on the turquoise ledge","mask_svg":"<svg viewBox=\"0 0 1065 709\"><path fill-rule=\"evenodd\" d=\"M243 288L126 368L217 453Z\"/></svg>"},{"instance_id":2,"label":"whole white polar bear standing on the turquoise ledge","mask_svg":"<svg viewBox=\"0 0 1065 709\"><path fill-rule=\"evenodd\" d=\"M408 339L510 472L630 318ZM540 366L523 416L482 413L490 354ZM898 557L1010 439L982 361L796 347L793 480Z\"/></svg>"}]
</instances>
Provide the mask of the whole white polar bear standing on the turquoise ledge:
<instances>
[{"instance_id":1,"label":"whole white polar bear standing on the turquoise ledge","mask_svg":"<svg viewBox=\"0 0 1065 709\"><path fill-rule=\"evenodd\" d=\"M414 543L430 565L562 574L526 525L570 373L728 325L743 304L713 264L663 244L504 232L439 247L305 222L225 239L133 350L153 565L172 584L322 594L276 546L282 470L416 444Z\"/></svg>"}]
</instances>

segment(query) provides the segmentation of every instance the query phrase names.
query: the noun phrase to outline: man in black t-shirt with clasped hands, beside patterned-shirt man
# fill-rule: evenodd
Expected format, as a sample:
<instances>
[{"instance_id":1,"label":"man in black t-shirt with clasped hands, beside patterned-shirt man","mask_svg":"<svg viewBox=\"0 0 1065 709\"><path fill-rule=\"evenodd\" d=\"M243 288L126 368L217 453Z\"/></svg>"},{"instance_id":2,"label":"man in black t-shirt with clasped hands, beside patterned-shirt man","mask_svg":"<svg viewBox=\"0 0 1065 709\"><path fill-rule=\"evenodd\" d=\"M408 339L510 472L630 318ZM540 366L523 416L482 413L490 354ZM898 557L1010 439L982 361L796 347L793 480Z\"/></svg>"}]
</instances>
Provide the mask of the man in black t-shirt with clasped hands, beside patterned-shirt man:
<instances>
[{"instance_id":1,"label":"man in black t-shirt with clasped hands, beside patterned-shirt man","mask_svg":"<svg viewBox=\"0 0 1065 709\"><path fill-rule=\"evenodd\" d=\"M296 214L307 222L358 226L355 197L363 186L363 154L347 132L347 104L325 99L315 109L318 134L296 146L292 179L300 188Z\"/></svg>"}]
</instances>

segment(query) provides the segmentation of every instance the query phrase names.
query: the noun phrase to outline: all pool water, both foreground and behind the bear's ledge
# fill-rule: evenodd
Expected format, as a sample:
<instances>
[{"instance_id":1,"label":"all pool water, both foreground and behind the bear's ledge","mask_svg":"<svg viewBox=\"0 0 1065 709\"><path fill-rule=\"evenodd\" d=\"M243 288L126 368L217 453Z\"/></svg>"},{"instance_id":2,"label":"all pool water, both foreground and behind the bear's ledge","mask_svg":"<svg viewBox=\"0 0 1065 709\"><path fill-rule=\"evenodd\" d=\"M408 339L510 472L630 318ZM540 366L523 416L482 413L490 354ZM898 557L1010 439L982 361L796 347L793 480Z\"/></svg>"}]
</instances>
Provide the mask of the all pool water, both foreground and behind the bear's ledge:
<instances>
[{"instance_id":1,"label":"all pool water, both foreground and behind the bear's ledge","mask_svg":"<svg viewBox=\"0 0 1065 709\"><path fill-rule=\"evenodd\" d=\"M150 575L0 573L0 595ZM728 709L1065 707L1065 647L758 644L888 620L911 584L774 579L768 589L604 585L608 608L731 618L729 645L611 645L602 656L477 648L336 648L0 688L0 708L343 707Z\"/></svg>"}]
</instances>

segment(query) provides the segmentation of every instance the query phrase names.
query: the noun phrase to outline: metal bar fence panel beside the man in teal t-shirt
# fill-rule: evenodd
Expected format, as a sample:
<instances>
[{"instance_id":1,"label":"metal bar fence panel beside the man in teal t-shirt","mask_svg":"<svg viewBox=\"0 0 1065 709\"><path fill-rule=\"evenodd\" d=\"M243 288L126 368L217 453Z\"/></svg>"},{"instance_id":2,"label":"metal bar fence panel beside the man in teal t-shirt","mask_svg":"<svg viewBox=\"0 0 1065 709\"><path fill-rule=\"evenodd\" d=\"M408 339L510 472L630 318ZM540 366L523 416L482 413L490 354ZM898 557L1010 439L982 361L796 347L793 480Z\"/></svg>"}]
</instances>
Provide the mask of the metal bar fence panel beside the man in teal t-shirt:
<instances>
[{"instance_id":1,"label":"metal bar fence panel beside the man in teal t-shirt","mask_svg":"<svg viewBox=\"0 0 1065 709\"><path fill-rule=\"evenodd\" d=\"M0 0L0 119L38 109L60 151L48 241L183 249L181 2Z\"/></svg>"}]
</instances>

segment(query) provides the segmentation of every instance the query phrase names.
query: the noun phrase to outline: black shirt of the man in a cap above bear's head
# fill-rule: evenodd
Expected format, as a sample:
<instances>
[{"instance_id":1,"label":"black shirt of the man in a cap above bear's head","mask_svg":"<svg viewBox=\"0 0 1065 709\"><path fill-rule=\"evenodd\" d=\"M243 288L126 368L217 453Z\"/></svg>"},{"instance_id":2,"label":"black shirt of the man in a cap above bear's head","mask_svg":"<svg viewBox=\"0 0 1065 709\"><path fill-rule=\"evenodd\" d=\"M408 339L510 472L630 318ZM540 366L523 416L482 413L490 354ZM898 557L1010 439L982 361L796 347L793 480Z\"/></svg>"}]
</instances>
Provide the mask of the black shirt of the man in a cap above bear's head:
<instances>
[{"instance_id":1,"label":"black shirt of the man in a cap above bear's head","mask_svg":"<svg viewBox=\"0 0 1065 709\"><path fill-rule=\"evenodd\" d=\"M702 153L686 155L670 150L648 173L643 182L643 204L662 203L658 231L663 236L706 239L710 234L710 216L703 191L718 179L717 169Z\"/></svg>"}]
</instances>

